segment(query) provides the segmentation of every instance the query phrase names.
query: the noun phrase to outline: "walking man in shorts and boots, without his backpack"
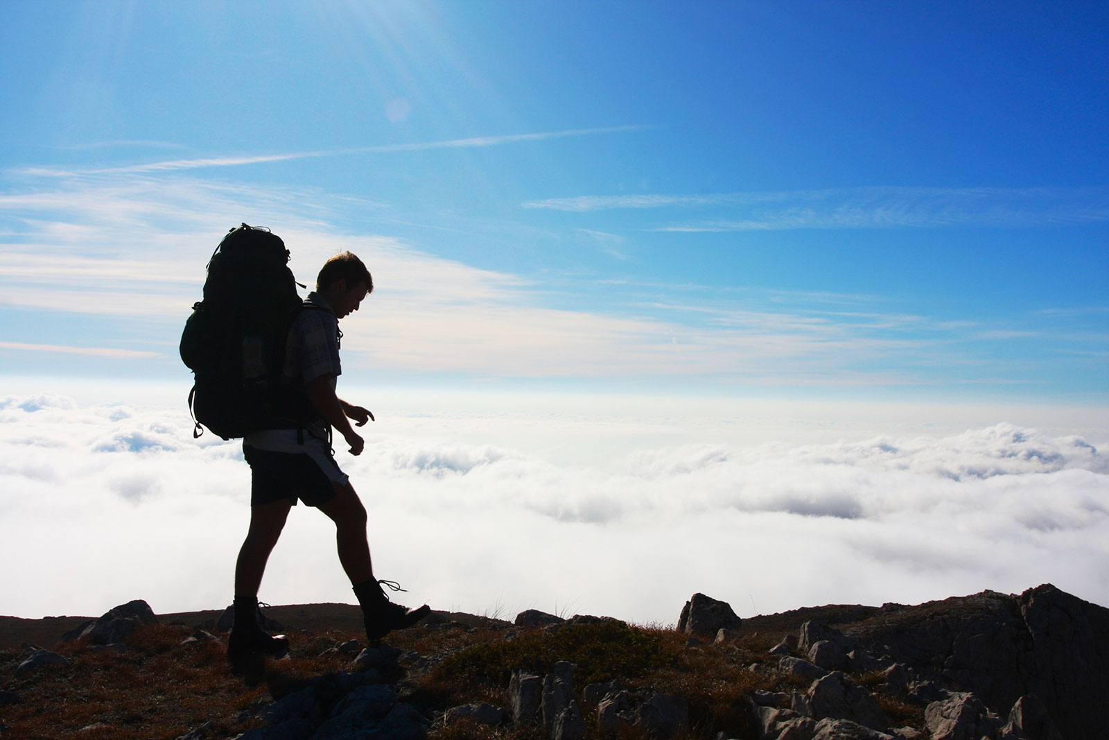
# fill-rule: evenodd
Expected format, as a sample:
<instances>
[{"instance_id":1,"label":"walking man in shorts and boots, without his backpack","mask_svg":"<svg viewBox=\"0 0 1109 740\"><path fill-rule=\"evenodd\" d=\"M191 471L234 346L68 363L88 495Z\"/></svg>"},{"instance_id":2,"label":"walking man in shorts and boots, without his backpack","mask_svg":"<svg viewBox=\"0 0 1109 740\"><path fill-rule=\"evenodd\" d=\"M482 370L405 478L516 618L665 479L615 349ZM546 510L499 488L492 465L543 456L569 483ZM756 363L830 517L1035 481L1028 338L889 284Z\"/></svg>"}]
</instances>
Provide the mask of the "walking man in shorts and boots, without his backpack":
<instances>
[{"instance_id":1,"label":"walking man in shorts and boots, without his backpack","mask_svg":"<svg viewBox=\"0 0 1109 740\"><path fill-rule=\"evenodd\" d=\"M343 435L352 455L365 440L350 426L374 420L374 415L335 395L339 366L338 320L358 311L374 290L374 281L354 254L344 252L319 271L316 291L294 320L286 341L283 383L301 412L273 426L251 432L243 439L243 455L251 465L251 526L235 565L234 626L227 638L227 657L234 663L257 655L282 655L284 636L267 635L258 621L258 587L266 560L289 509L297 499L314 506L335 523L339 561L362 606L366 637L375 643L389 631L410 627L430 609L389 601L374 577L366 539L366 509L349 478L335 463L330 430ZM295 416L296 418L292 418ZM390 585L390 587L393 587ZM396 587L393 587L396 590Z\"/></svg>"}]
</instances>

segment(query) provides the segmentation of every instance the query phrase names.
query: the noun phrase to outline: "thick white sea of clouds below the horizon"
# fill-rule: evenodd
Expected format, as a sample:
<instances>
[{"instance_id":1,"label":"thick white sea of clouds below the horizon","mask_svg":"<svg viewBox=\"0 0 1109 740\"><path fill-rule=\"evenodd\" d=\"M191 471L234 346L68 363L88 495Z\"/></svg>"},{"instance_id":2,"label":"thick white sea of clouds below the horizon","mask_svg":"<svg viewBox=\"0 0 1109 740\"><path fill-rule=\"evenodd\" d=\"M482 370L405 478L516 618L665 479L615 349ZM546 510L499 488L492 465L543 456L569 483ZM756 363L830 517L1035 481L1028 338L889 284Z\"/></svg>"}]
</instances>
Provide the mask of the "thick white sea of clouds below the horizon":
<instances>
[{"instance_id":1,"label":"thick white sea of clouds below the horizon","mask_svg":"<svg viewBox=\"0 0 1109 740\"><path fill-rule=\"evenodd\" d=\"M379 415L362 456L338 454L378 577L407 602L506 618L670 624L694 591L751 616L1048 581L1109 605L1106 439L1010 423L805 438L589 419ZM222 608L248 491L241 445L194 439L181 406L0 397L0 614ZM333 541L298 506L261 598L353 602Z\"/></svg>"}]
</instances>

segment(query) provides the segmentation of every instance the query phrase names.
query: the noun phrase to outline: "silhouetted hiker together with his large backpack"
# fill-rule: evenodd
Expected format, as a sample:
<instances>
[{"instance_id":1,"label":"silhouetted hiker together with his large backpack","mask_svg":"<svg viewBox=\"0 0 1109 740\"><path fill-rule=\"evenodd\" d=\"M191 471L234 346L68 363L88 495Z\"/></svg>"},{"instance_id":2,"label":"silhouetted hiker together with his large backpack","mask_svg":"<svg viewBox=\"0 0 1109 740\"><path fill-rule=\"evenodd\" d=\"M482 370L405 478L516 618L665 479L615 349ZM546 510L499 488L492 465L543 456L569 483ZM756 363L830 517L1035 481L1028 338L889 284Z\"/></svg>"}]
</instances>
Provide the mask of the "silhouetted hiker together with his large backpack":
<instances>
[{"instance_id":1,"label":"silhouetted hiker together with his large backpack","mask_svg":"<svg viewBox=\"0 0 1109 740\"><path fill-rule=\"evenodd\" d=\"M182 335L182 358L196 374L190 394L194 435L204 425L225 438L242 436L251 466L251 524L235 564L227 639L236 668L288 650L284 636L263 629L257 597L266 561L298 500L335 523L339 562L370 645L430 612L427 605L406 609L390 601L381 586L403 589L374 576L366 508L332 449L335 430L352 455L362 454L365 440L354 426L374 420L335 392L342 374L338 322L374 291L373 277L354 254L336 254L302 302L287 261L284 242L269 231L246 224L231 230L208 263L204 301Z\"/></svg>"}]
</instances>

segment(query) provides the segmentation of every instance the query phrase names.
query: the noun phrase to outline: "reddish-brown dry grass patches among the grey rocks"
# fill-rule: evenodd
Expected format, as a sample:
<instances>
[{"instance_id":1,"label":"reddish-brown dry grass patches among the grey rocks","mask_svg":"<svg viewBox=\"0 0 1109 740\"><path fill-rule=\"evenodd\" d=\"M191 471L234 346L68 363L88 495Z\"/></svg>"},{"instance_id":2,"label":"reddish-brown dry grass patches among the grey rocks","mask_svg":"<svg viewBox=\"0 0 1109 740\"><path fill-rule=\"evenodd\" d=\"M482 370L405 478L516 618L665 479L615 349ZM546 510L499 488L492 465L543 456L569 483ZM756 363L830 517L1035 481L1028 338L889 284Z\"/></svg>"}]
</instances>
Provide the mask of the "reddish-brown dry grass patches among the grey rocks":
<instances>
[{"instance_id":1,"label":"reddish-brown dry grass patches among the grey rocks","mask_svg":"<svg viewBox=\"0 0 1109 740\"><path fill-rule=\"evenodd\" d=\"M357 635L288 631L289 657L271 662L266 681L257 686L231 673L224 645L182 646L191 628L161 625L139 630L122 653L96 652L81 642L55 646L72 658L70 665L7 678L0 686L24 699L0 710L0 718L11 728L3 738L172 739L206 721L213 723L208 737L234 736L258 726L257 710L274 699L314 678L352 669L350 656L325 651ZM631 691L684 698L690 708L690 740L713 738L719 731L745 740L756 737L750 717L752 691L804 689L793 677L747 669L767 660L765 650L780 639L776 629L764 629L721 645L686 645L686 637L672 629L614 621L541 630L485 620L469 626L421 625L396 633L390 643L421 656L401 660L408 673L399 688L404 701L429 716L481 701L510 708L512 670L523 668L542 676L556 661L569 660L577 665L574 683L588 727L594 727L597 707L583 701L581 690L615 678ZM13 676L22 652L0 650L0 676ZM881 701L898 723L916 723L917 708L889 697ZM638 738L634 732L625 734L623 740ZM489 728L457 721L449 727L437 722L430 736L435 740L540 740L542 732L537 727Z\"/></svg>"}]
</instances>

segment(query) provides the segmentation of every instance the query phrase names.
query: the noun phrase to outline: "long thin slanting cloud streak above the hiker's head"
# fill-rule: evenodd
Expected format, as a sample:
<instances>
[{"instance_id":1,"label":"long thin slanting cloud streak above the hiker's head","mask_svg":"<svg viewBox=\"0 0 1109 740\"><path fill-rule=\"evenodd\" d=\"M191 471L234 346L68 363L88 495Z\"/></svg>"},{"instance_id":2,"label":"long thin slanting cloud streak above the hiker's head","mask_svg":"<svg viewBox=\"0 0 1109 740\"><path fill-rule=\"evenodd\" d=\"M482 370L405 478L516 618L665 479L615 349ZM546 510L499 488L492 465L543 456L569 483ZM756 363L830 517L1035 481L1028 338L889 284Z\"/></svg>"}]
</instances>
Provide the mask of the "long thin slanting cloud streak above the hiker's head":
<instances>
[{"instance_id":1,"label":"long thin slanting cloud streak above the hiker's head","mask_svg":"<svg viewBox=\"0 0 1109 740\"><path fill-rule=\"evenodd\" d=\"M315 159L323 156L344 156L350 154L383 154L388 152L418 152L435 149L474 149L498 146L526 141L545 141L564 139L568 136L589 136L606 133L622 133L639 131L641 125L618 125L596 129L568 129L563 131L540 131L535 133L515 133L495 136L470 136L468 139L448 139L444 141L410 142L404 144L379 144L374 146L355 146L349 149L317 150L306 152L287 152L279 154L253 154L241 156L206 156L196 159L166 160L112 168L27 168L22 174L35 176L73 176L81 174L141 174L150 172L172 172L176 170L196 170L202 168L242 166L246 164L266 164L269 162L287 162L289 160Z\"/></svg>"}]
</instances>

